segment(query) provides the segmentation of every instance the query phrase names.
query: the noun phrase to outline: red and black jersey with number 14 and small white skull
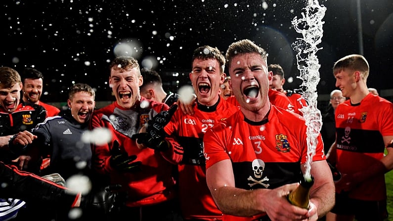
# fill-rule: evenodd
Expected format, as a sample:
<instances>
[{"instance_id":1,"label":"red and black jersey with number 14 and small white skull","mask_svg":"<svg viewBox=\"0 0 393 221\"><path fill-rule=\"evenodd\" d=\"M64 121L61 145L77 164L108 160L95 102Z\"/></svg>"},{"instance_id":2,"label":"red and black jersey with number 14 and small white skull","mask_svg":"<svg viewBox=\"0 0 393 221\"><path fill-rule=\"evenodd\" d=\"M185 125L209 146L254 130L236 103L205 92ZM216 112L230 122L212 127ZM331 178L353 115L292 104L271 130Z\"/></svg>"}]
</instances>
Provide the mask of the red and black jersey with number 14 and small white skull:
<instances>
[{"instance_id":1,"label":"red and black jersey with number 14 and small white skull","mask_svg":"<svg viewBox=\"0 0 393 221\"><path fill-rule=\"evenodd\" d=\"M350 100L336 108L337 169L353 174L367 169L384 157L383 136L393 135L393 104L369 93L358 104ZM349 193L360 200L386 198L385 176L375 176Z\"/></svg>"}]
</instances>

